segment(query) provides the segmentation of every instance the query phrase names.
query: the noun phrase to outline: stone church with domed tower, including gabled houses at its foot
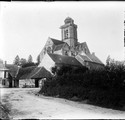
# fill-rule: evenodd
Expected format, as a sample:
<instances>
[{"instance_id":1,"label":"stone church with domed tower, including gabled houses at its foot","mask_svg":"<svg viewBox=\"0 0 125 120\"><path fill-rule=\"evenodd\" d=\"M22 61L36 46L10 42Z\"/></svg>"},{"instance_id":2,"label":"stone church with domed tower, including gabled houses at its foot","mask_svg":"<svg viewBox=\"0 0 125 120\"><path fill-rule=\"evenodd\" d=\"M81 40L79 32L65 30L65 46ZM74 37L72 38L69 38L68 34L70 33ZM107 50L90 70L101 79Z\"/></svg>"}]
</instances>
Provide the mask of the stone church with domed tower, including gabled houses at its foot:
<instances>
[{"instance_id":1,"label":"stone church with domed tower, including gabled houses at its foot","mask_svg":"<svg viewBox=\"0 0 125 120\"><path fill-rule=\"evenodd\" d=\"M86 66L89 69L104 67L95 53L90 52L86 42L78 42L77 25L72 18L67 17L60 29L62 40L48 38L39 54L39 66L48 71L55 65Z\"/></svg>"}]
</instances>

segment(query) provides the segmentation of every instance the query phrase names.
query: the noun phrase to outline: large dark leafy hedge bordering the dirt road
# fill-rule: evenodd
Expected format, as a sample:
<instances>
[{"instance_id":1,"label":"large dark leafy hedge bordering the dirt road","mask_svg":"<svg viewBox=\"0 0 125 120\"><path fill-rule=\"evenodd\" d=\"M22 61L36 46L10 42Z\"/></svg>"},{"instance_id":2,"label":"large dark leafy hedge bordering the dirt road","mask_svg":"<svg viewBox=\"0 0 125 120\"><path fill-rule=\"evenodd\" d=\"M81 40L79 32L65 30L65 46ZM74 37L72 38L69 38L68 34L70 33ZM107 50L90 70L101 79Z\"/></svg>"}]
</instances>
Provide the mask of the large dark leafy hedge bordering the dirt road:
<instances>
[{"instance_id":1,"label":"large dark leafy hedge bordering the dirt road","mask_svg":"<svg viewBox=\"0 0 125 120\"><path fill-rule=\"evenodd\" d=\"M102 70L52 68L55 76L45 81L40 93L80 100L105 107L119 108L125 105L125 66L110 63Z\"/></svg>"}]
</instances>

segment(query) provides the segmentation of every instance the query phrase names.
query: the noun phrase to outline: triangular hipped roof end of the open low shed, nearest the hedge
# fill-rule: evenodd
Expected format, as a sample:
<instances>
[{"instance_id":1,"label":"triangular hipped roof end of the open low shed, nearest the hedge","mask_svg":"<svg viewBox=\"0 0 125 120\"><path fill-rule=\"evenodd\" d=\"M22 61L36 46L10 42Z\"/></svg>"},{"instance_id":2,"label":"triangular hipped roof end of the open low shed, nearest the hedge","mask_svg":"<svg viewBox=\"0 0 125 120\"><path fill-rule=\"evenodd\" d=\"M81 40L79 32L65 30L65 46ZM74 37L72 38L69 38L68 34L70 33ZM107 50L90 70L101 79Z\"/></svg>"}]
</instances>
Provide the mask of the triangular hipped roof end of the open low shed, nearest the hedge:
<instances>
[{"instance_id":1,"label":"triangular hipped roof end of the open low shed, nearest the hedge","mask_svg":"<svg viewBox=\"0 0 125 120\"><path fill-rule=\"evenodd\" d=\"M50 78L50 77L52 77L52 75L48 70L46 70L44 67L39 67L39 70L31 78L40 79L40 78Z\"/></svg>"}]
</instances>

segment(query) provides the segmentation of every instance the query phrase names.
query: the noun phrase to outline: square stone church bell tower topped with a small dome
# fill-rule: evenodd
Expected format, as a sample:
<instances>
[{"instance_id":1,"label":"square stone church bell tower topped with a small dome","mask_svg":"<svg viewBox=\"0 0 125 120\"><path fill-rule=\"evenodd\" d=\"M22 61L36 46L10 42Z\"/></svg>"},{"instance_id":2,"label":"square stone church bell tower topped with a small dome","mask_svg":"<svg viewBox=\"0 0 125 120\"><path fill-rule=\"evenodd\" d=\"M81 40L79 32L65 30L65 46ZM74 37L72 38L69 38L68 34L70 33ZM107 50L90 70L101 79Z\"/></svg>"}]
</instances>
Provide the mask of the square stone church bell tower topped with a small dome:
<instances>
[{"instance_id":1,"label":"square stone church bell tower topped with a small dome","mask_svg":"<svg viewBox=\"0 0 125 120\"><path fill-rule=\"evenodd\" d=\"M66 42L70 48L75 48L77 45L77 25L74 24L74 20L67 17L64 20L64 25L60 27L62 34L62 41Z\"/></svg>"}]
</instances>

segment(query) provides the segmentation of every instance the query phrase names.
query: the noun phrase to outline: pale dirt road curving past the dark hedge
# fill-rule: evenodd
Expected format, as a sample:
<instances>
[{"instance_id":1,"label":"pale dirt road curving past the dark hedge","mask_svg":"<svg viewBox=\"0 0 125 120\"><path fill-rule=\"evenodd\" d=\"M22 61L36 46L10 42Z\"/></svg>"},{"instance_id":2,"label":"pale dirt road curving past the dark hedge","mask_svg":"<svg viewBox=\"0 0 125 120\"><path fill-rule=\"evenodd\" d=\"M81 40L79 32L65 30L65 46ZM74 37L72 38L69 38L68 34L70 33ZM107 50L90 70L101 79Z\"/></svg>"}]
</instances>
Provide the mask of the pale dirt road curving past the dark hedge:
<instances>
[{"instance_id":1,"label":"pale dirt road curving past the dark hedge","mask_svg":"<svg viewBox=\"0 0 125 120\"><path fill-rule=\"evenodd\" d=\"M0 88L2 106L13 119L125 119L125 111L37 95L40 88Z\"/></svg>"}]
</instances>

